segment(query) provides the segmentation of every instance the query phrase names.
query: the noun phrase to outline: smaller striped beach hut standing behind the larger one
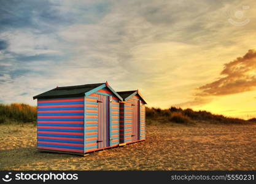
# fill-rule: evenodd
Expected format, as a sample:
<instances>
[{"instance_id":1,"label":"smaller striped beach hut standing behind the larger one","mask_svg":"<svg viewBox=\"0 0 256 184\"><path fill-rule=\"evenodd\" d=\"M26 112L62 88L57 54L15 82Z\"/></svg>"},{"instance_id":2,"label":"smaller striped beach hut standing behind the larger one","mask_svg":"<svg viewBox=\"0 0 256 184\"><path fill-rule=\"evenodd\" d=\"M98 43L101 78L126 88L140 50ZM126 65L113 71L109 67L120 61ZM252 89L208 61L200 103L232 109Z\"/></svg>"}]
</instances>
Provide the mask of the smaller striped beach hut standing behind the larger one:
<instances>
[{"instance_id":1,"label":"smaller striped beach hut standing behind the larger one","mask_svg":"<svg viewBox=\"0 0 256 184\"><path fill-rule=\"evenodd\" d=\"M138 90L117 92L120 102L120 144L145 140L145 99Z\"/></svg>"}]
</instances>

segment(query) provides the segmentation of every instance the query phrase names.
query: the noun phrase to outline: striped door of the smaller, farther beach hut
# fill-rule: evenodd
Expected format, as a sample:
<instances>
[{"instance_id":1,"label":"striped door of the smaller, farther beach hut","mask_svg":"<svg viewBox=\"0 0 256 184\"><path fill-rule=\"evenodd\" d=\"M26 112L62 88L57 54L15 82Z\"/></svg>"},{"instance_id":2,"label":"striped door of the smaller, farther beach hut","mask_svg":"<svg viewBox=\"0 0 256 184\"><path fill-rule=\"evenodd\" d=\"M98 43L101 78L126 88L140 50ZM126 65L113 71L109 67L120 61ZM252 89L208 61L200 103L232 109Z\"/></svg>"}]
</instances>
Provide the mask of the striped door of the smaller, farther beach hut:
<instances>
[{"instance_id":1,"label":"striped door of the smaller, farther beach hut","mask_svg":"<svg viewBox=\"0 0 256 184\"><path fill-rule=\"evenodd\" d=\"M139 140L139 101L133 100L133 129L131 134L131 140Z\"/></svg>"}]
</instances>

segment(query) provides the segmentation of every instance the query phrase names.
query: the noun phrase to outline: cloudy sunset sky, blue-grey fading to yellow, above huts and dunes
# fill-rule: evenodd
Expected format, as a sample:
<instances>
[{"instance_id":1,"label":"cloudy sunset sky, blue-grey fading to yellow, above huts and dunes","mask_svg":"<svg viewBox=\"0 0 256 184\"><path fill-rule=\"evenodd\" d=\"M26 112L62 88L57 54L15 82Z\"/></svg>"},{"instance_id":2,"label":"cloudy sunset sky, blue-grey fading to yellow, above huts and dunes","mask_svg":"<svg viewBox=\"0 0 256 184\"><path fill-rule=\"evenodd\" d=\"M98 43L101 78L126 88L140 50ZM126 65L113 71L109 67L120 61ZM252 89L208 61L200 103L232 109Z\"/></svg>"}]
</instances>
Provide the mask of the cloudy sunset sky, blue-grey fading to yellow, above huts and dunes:
<instances>
[{"instance_id":1,"label":"cloudy sunset sky, blue-grey fading to yellow, above huts and dunes","mask_svg":"<svg viewBox=\"0 0 256 184\"><path fill-rule=\"evenodd\" d=\"M149 107L256 117L254 0L0 2L0 103L107 81Z\"/></svg>"}]
</instances>

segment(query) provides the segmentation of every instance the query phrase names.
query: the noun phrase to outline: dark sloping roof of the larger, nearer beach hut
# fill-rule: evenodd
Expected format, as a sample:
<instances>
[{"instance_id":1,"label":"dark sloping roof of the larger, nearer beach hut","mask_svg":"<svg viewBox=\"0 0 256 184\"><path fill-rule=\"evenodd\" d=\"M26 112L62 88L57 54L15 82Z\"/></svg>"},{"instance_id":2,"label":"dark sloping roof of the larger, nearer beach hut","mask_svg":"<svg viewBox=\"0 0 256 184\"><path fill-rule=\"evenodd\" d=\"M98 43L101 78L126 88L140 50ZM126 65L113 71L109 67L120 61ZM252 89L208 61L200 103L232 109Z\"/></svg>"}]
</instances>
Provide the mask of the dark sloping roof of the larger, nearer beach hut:
<instances>
[{"instance_id":1,"label":"dark sloping roof of the larger, nearer beach hut","mask_svg":"<svg viewBox=\"0 0 256 184\"><path fill-rule=\"evenodd\" d=\"M50 91L46 91L45 93L34 96L33 99L82 96L87 91L93 90L94 88L97 88L98 86L101 86L103 84L104 83L93 83L87 85L56 87Z\"/></svg>"}]
</instances>

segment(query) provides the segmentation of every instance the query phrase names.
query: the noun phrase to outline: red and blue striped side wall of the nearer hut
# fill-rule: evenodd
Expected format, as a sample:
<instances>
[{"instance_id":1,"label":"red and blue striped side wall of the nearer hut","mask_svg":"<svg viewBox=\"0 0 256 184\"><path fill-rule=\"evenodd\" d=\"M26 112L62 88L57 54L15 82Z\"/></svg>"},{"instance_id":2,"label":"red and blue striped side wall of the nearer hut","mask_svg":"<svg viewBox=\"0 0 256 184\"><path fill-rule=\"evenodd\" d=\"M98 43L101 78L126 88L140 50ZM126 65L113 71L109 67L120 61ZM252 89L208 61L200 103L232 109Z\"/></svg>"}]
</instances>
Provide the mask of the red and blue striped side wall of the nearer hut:
<instances>
[{"instance_id":1,"label":"red and blue striped side wall of the nearer hut","mask_svg":"<svg viewBox=\"0 0 256 184\"><path fill-rule=\"evenodd\" d=\"M37 148L83 153L84 99L37 100Z\"/></svg>"}]
</instances>

